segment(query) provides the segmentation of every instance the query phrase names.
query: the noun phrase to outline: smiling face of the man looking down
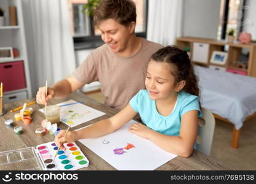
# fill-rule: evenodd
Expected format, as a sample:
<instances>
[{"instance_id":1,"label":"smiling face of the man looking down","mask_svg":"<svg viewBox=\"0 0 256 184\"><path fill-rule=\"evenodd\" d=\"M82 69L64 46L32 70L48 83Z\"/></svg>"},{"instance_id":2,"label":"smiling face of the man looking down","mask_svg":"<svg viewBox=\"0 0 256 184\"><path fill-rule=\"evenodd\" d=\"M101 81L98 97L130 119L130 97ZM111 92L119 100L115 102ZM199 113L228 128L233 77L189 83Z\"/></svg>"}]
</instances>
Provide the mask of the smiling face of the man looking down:
<instances>
[{"instance_id":1,"label":"smiling face of the man looking down","mask_svg":"<svg viewBox=\"0 0 256 184\"><path fill-rule=\"evenodd\" d=\"M133 26L123 26L112 18L101 21L99 23L99 31L101 31L101 39L109 45L112 52L125 52L128 41L133 34Z\"/></svg>"}]
</instances>

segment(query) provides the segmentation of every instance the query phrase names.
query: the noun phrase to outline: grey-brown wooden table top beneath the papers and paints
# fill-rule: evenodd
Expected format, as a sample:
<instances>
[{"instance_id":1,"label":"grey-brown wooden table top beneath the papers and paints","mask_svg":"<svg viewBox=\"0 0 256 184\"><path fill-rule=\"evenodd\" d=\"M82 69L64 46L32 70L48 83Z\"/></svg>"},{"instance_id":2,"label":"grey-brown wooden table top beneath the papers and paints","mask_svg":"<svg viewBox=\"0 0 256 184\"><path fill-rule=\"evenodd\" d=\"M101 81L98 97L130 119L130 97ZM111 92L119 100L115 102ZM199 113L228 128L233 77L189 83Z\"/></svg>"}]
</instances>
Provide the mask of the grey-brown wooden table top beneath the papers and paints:
<instances>
[{"instance_id":1,"label":"grey-brown wooden table top beneath the papers and paints","mask_svg":"<svg viewBox=\"0 0 256 184\"><path fill-rule=\"evenodd\" d=\"M65 99L53 99L52 101L48 102L49 105L51 104L58 104L63 101L67 101L69 99L74 99L75 101L85 101L85 105L88 105L94 109L101 110L105 112L106 115L102 117L95 118L94 120L88 121L83 123L82 125L76 126L74 129L82 128L83 126L90 125L95 123L96 121L103 120L104 118L111 117L115 113L116 110L107 107L104 104L99 104L94 99L88 98L82 93L76 92L68 96ZM15 121L15 126L23 126L23 134L17 136L14 133L13 128L6 128L4 125L4 120L12 119L14 120L14 114L17 112L10 112L11 109L16 107L20 107L25 102L28 103L33 99L27 99L25 101L14 102L10 104L5 104L5 108L7 113L0 117L0 151L7 151L7 150L16 150L18 148L26 148L26 147L36 147L36 145L44 144L46 142L51 142L54 140L54 136L50 134L46 134L43 137L36 136L34 131L36 128L41 126L41 121L44 120L44 114L39 112L38 109L44 107L43 105L34 104L29 107L33 107L34 113L32 115L33 121L30 125L23 125L21 121ZM66 129L67 126L64 123L60 123L59 127L61 129ZM83 168L83 170L116 170L112 167L109 163L104 161L104 159L100 158L96 153L85 147L85 145L80 144L80 142L76 142L76 144L80 147L80 149L85 153L90 164L88 167ZM192 155L189 158L182 158L177 156L176 158L172 159L163 166L158 167L156 170L229 170L227 167L222 166L222 164L217 163L211 157L200 153L199 151L193 151Z\"/></svg>"}]
</instances>

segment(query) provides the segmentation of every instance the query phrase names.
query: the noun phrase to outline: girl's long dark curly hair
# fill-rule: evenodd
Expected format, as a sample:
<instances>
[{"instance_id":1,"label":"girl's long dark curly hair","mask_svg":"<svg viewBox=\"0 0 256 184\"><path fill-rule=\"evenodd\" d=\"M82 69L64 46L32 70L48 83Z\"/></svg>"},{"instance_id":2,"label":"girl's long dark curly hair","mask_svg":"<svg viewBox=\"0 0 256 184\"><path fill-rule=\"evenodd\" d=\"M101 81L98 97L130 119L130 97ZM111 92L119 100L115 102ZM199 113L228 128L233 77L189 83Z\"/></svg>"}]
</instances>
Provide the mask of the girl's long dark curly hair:
<instances>
[{"instance_id":1,"label":"girl's long dark curly hair","mask_svg":"<svg viewBox=\"0 0 256 184\"><path fill-rule=\"evenodd\" d=\"M186 51L179 49L175 45L169 45L158 50L151 58L157 62L174 64L176 66L174 70L176 84L181 80L185 80L186 83L182 90L199 96L198 80Z\"/></svg>"}]
</instances>

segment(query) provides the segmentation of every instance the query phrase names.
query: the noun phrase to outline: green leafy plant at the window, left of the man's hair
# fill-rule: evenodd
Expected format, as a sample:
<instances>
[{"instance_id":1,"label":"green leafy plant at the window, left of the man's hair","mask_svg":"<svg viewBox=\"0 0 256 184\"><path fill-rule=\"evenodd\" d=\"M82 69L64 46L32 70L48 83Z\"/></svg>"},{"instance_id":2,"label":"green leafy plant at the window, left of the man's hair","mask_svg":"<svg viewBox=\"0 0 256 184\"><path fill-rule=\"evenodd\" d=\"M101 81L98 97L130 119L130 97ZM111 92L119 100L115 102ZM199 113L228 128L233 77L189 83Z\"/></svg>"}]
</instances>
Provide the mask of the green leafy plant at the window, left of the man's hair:
<instances>
[{"instance_id":1,"label":"green leafy plant at the window, left of the man's hair","mask_svg":"<svg viewBox=\"0 0 256 184\"><path fill-rule=\"evenodd\" d=\"M96 9L96 7L99 6L99 3L101 2L101 0L88 0L87 4L85 4L83 6L83 13L87 13L88 17L90 18L91 21L91 35L94 36L94 28L93 28L93 10Z\"/></svg>"}]
</instances>

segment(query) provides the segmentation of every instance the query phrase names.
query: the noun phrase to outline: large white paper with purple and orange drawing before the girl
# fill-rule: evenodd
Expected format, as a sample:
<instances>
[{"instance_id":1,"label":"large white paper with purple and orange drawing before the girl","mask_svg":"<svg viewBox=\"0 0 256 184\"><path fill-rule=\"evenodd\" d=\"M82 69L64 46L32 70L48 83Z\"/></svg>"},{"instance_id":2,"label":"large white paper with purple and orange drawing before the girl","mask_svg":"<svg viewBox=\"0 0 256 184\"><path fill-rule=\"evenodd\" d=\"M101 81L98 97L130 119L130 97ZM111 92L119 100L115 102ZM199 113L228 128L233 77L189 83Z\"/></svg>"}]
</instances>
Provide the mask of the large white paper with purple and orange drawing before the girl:
<instances>
[{"instance_id":1,"label":"large white paper with purple and orange drawing before the girl","mask_svg":"<svg viewBox=\"0 0 256 184\"><path fill-rule=\"evenodd\" d=\"M177 156L162 150L150 140L129 132L128 128L133 123L138 122L131 120L111 134L79 141L117 170L154 170ZM127 144L134 147L126 150ZM123 148L125 153L115 154L116 148Z\"/></svg>"}]
</instances>

